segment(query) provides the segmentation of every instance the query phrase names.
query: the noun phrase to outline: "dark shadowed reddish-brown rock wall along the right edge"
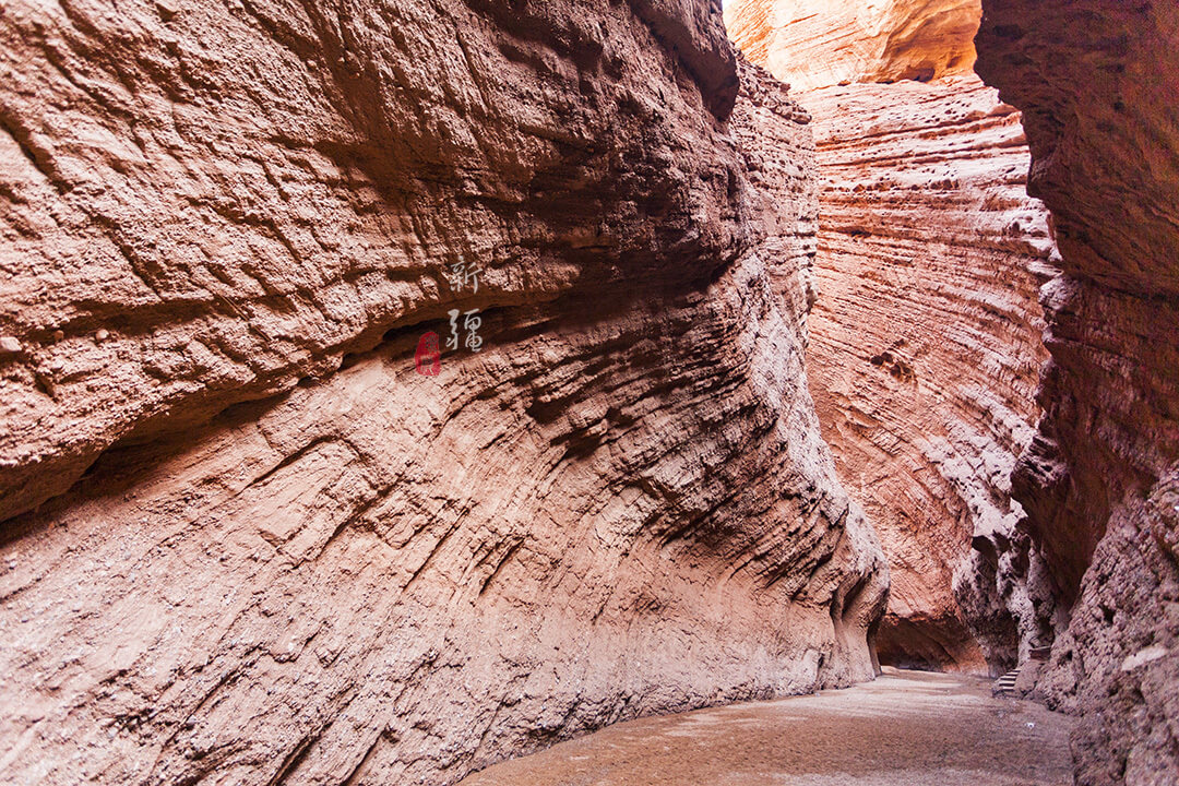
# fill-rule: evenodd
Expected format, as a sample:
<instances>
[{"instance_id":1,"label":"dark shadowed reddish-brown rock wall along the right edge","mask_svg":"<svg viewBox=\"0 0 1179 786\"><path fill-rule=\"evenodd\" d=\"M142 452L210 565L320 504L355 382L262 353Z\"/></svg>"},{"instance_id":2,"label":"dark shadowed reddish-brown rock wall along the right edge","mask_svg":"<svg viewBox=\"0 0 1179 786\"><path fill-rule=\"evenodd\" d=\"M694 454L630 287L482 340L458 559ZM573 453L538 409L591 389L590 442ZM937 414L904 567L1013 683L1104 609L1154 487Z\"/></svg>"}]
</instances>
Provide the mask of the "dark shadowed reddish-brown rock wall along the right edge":
<instances>
[{"instance_id":1,"label":"dark shadowed reddish-brown rock wall along the right edge","mask_svg":"<svg viewBox=\"0 0 1179 786\"><path fill-rule=\"evenodd\" d=\"M986 0L979 71L1025 113L1053 212L1046 415L1016 471L1068 629L1038 691L1078 782L1179 772L1179 7Z\"/></svg>"}]
</instances>

